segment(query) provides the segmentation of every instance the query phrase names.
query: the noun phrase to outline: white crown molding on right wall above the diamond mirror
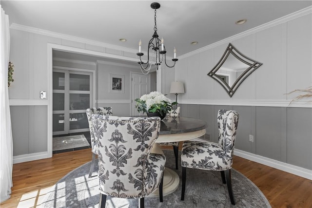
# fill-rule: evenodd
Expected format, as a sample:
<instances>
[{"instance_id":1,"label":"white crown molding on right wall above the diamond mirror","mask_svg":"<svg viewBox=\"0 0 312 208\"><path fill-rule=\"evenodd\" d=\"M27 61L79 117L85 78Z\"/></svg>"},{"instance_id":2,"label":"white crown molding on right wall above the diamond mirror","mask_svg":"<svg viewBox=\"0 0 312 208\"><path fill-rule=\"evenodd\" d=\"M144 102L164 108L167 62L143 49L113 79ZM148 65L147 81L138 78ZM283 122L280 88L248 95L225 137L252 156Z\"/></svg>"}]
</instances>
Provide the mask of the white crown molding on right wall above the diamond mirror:
<instances>
[{"instance_id":1,"label":"white crown molding on right wall above the diamond mirror","mask_svg":"<svg viewBox=\"0 0 312 208\"><path fill-rule=\"evenodd\" d=\"M274 27L276 25L282 24L284 22L287 22L287 21L290 21L292 19L296 19L296 18L305 16L305 15L308 15L308 14L311 14L311 13L312 13L312 6L309 6L307 8L304 8L304 9L301 9L299 11L296 11L296 12L294 12L292 14L286 15L286 16L278 18L278 19L274 19L274 20L272 20L270 22L267 22L267 23L262 24L260 26L257 26L257 27L254 27L252 29L246 30L244 32L241 32L241 33L236 34L234 36L231 36L229 38L222 39L220 41L217 41L217 42L212 43L210 45L207 45L205 47L199 48L199 49L197 49L195 51L192 51L190 53L181 55L181 56L179 56L179 59L193 56L193 55L198 54L200 52L207 51L209 49L213 49L213 48L215 48L217 46L220 46L222 44L228 44L229 42L234 41L236 39L243 38L243 37L255 34L255 33L260 32L262 30L266 30L266 29L268 29L270 27Z\"/></svg>"}]
</instances>

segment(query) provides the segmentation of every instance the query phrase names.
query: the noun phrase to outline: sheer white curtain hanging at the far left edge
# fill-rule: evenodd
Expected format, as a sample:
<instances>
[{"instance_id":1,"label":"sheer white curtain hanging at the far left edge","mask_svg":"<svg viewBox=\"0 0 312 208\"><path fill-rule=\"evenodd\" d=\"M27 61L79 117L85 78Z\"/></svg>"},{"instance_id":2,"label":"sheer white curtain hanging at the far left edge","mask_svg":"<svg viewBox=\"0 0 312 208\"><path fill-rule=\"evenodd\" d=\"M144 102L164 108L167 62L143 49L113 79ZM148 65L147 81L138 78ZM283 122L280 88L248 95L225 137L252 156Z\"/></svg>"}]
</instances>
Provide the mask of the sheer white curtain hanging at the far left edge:
<instances>
[{"instance_id":1,"label":"sheer white curtain hanging at the far left edge","mask_svg":"<svg viewBox=\"0 0 312 208\"><path fill-rule=\"evenodd\" d=\"M10 198L13 168L13 141L8 89L10 51L9 17L1 6L0 17L0 201Z\"/></svg>"}]
</instances>

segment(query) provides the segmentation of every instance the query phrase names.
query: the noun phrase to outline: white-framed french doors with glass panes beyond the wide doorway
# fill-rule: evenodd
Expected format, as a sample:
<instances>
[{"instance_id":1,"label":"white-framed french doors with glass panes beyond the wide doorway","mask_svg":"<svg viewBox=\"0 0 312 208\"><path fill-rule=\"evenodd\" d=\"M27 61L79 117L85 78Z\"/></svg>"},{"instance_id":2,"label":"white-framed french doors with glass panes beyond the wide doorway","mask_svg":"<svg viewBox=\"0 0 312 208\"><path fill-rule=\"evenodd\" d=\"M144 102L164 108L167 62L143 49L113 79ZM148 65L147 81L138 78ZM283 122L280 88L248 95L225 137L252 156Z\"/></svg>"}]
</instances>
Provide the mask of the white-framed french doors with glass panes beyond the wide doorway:
<instances>
[{"instance_id":1,"label":"white-framed french doors with glass panes beyond the wide doorway","mask_svg":"<svg viewBox=\"0 0 312 208\"><path fill-rule=\"evenodd\" d=\"M53 135L89 131L92 73L53 70Z\"/></svg>"}]
</instances>

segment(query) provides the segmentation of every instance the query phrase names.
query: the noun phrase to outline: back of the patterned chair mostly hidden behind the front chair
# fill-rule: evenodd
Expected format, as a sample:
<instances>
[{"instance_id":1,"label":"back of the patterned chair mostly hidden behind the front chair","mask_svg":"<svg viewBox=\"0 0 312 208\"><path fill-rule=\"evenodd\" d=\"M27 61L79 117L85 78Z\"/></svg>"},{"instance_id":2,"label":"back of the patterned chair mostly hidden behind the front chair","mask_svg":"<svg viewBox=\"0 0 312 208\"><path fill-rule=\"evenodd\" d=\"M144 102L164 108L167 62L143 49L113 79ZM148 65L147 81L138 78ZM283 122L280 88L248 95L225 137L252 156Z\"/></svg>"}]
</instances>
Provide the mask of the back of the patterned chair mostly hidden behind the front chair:
<instances>
[{"instance_id":1,"label":"back of the patterned chair mostly hidden behind the front chair","mask_svg":"<svg viewBox=\"0 0 312 208\"><path fill-rule=\"evenodd\" d=\"M113 115L112 107L98 107L98 108L88 108L86 110L88 123L89 123L89 130L90 130L90 137L91 137L91 150L93 153L97 154L97 142L94 137L93 132L93 125L92 125L92 114L99 114L99 115Z\"/></svg>"}]
</instances>

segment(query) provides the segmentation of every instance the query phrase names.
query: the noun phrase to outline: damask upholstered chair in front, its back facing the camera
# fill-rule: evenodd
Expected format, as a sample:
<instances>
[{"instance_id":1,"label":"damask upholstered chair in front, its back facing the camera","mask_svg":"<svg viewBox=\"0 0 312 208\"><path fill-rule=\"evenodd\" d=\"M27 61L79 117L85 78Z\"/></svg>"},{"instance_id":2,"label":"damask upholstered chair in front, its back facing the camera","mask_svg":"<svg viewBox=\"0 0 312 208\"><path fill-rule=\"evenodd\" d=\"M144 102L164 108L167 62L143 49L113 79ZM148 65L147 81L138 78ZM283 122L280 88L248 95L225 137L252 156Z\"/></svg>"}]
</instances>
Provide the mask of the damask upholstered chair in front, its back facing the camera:
<instances>
[{"instance_id":1,"label":"damask upholstered chair in front, its back facing the camera","mask_svg":"<svg viewBox=\"0 0 312 208\"><path fill-rule=\"evenodd\" d=\"M159 187L162 202L164 154L151 153L160 130L159 117L117 117L92 115L98 140L99 207L104 208L107 195L138 198Z\"/></svg>"}]
</instances>

